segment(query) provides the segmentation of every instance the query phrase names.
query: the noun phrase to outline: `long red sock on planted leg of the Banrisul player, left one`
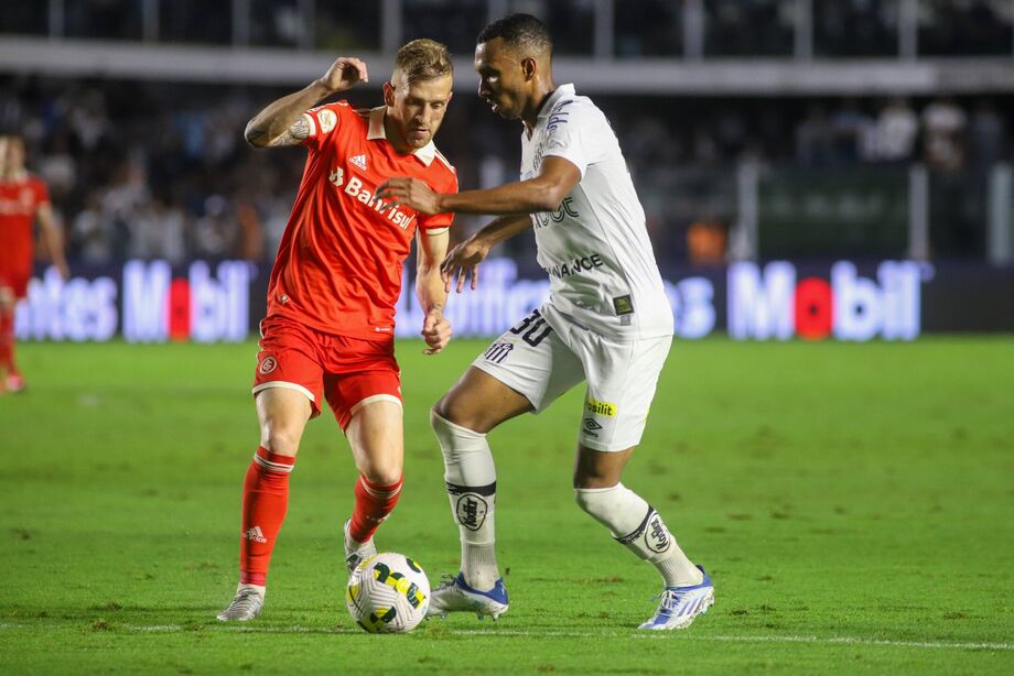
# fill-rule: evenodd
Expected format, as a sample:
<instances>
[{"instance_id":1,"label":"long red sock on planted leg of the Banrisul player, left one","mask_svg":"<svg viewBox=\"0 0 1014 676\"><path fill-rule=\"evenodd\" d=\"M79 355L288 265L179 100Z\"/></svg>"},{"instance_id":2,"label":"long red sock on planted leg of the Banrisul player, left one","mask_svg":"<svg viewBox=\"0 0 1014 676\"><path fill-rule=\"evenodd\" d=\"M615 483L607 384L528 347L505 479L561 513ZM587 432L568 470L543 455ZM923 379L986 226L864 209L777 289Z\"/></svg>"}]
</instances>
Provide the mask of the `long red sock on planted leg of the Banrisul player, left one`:
<instances>
[{"instance_id":1,"label":"long red sock on planted leg of the Banrisul player, left one","mask_svg":"<svg viewBox=\"0 0 1014 676\"><path fill-rule=\"evenodd\" d=\"M239 581L266 586L274 541L289 509L289 472L295 458L258 447L242 484Z\"/></svg>"}]
</instances>

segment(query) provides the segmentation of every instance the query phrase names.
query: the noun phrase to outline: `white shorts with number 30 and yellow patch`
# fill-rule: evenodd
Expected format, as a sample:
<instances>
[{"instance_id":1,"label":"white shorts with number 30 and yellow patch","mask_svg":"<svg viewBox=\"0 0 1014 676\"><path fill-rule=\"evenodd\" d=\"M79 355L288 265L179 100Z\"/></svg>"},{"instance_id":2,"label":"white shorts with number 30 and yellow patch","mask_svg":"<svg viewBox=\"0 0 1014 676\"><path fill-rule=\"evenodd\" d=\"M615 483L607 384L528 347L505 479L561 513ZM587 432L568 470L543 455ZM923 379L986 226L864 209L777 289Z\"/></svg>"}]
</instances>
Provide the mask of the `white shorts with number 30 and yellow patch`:
<instances>
[{"instance_id":1,"label":"white shorts with number 30 and yellow patch","mask_svg":"<svg viewBox=\"0 0 1014 676\"><path fill-rule=\"evenodd\" d=\"M612 340L543 306L507 329L472 366L522 394L536 413L587 382L578 440L594 450L637 446L672 338Z\"/></svg>"}]
</instances>

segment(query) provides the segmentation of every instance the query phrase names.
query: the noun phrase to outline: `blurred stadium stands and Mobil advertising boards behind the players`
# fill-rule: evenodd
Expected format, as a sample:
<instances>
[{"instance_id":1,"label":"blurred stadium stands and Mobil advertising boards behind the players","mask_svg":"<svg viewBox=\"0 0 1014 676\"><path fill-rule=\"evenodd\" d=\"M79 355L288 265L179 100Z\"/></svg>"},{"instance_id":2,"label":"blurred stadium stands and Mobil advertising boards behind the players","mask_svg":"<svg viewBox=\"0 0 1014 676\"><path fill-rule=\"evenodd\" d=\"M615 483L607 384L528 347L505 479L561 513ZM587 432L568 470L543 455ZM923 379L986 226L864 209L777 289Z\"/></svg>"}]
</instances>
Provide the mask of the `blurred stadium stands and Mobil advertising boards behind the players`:
<instances>
[{"instance_id":1,"label":"blurred stadium stands and Mobil advertising boards behind the players","mask_svg":"<svg viewBox=\"0 0 1014 676\"><path fill-rule=\"evenodd\" d=\"M471 68L510 11L547 21L558 81L610 116L678 335L1014 330L1006 0L23 0L0 12L0 128L26 138L75 279L40 263L19 336L254 335L303 154L252 152L241 129L338 54L366 59L347 96L371 106L397 46L446 43L439 146L463 187L516 177L517 129ZM532 249L510 242L452 304L459 335L538 302Z\"/></svg>"}]
</instances>

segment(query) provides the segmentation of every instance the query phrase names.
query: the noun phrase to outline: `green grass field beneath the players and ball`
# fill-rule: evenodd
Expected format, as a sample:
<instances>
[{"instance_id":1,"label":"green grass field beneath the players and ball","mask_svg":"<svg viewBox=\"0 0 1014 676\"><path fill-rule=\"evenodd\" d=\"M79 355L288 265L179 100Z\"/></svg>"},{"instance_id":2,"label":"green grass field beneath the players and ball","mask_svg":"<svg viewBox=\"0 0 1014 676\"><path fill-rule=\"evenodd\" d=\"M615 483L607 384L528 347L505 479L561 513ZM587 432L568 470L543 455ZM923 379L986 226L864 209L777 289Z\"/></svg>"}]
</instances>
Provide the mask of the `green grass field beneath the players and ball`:
<instances>
[{"instance_id":1,"label":"green grass field beneath the players and ball","mask_svg":"<svg viewBox=\"0 0 1014 676\"><path fill-rule=\"evenodd\" d=\"M378 535L457 567L429 405L484 344L399 344L406 490ZM265 614L223 625L257 445L254 346L28 345L0 397L0 672L1014 673L1014 340L678 344L625 483L716 585L633 628L654 569L570 490L581 392L492 435L499 622L362 633L342 593L354 468L330 417L292 475Z\"/></svg>"}]
</instances>

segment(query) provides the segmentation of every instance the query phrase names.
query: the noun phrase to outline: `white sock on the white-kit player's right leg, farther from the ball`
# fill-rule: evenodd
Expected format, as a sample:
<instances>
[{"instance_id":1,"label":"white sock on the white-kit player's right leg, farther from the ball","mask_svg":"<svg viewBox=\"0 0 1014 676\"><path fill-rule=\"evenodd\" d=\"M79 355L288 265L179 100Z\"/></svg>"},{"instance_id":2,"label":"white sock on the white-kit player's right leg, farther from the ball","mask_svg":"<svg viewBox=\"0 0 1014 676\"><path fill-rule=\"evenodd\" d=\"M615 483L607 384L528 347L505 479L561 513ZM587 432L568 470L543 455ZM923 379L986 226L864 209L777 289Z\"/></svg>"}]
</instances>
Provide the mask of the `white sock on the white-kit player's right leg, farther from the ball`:
<instances>
[{"instance_id":1,"label":"white sock on the white-kit player's right leg, farther from the ball","mask_svg":"<svg viewBox=\"0 0 1014 676\"><path fill-rule=\"evenodd\" d=\"M578 488L574 498L618 543L654 565L666 587L700 585L703 580L703 574L676 544L658 512L623 483Z\"/></svg>"}]
</instances>

